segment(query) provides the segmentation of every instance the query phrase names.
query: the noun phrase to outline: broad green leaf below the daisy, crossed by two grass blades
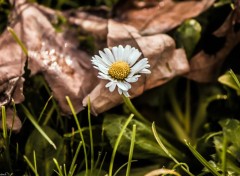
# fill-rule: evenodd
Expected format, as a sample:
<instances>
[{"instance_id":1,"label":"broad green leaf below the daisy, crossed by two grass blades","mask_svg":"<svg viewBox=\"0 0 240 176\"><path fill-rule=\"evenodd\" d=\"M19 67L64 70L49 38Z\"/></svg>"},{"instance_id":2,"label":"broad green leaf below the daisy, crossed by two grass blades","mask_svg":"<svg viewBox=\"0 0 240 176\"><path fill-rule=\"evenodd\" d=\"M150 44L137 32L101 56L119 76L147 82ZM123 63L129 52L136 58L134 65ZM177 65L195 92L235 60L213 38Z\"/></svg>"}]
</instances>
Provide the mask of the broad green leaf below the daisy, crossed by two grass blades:
<instances>
[{"instance_id":1,"label":"broad green leaf below the daisy, crossed by two grass blades","mask_svg":"<svg viewBox=\"0 0 240 176\"><path fill-rule=\"evenodd\" d=\"M106 131L106 135L112 147L114 146L126 120L127 117L119 115L106 115L104 117L104 130ZM132 126L134 124L136 124L137 130L133 158L150 158L156 156L156 154L158 156L168 157L166 153L158 146L152 134L151 128L135 119L132 119L126 128L118 146L118 152L128 156L132 138Z\"/></svg>"}]
</instances>

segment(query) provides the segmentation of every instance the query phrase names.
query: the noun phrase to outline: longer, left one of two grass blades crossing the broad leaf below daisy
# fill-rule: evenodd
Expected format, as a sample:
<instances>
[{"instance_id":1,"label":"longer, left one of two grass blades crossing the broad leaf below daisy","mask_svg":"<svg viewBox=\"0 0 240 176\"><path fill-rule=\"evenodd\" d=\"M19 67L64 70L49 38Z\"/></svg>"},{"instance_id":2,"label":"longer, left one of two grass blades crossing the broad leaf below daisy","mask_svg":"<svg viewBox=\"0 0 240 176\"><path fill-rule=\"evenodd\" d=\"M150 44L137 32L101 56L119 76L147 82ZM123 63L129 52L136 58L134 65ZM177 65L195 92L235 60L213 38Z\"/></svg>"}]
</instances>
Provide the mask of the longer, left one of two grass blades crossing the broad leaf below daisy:
<instances>
[{"instance_id":1,"label":"longer, left one of two grass blades crossing the broad leaf below daisy","mask_svg":"<svg viewBox=\"0 0 240 176\"><path fill-rule=\"evenodd\" d=\"M112 172L113 172L113 163L114 163L114 159L115 159L115 155L116 155L116 152L117 152L117 148L118 148L118 145L120 143L120 140L122 138L122 135L125 131L125 129L127 128L128 124L130 123L130 121L132 120L133 118L133 114L131 114L128 119L126 120L125 124L123 125L123 128L122 130L120 131L118 137L117 137L117 140L115 142L115 145L114 145L114 148L113 148L113 152L112 152L112 156L111 156L111 161L110 161L110 165L109 165L109 174L108 176L112 176Z\"/></svg>"}]
</instances>

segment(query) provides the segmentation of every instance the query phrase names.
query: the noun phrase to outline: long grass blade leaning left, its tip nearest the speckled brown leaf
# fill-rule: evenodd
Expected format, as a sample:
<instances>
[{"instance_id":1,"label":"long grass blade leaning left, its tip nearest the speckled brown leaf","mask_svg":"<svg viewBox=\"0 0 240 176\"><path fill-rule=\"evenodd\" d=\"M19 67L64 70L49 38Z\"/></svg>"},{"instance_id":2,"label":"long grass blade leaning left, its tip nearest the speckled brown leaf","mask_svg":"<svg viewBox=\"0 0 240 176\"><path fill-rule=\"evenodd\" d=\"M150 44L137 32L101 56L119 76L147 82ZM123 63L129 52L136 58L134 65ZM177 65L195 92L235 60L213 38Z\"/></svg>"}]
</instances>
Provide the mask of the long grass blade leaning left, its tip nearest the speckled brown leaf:
<instances>
[{"instance_id":1,"label":"long grass blade leaning left, its tip nearest the speckled brown leaf","mask_svg":"<svg viewBox=\"0 0 240 176\"><path fill-rule=\"evenodd\" d=\"M83 152L84 152L84 159L85 159L85 167L86 167L86 172L85 172L85 175L88 176L88 158L87 158L87 150L86 150L86 145L85 145L85 142L84 142L84 138L83 138L83 134L82 134L82 130L81 130L81 126L79 124L79 121L78 121L78 118L77 118L77 115L76 115L76 112L75 112L75 109L72 105L72 102L70 100L70 98L68 96L66 96L66 99L67 99L67 102L68 102L68 105L72 111L72 114L73 114L73 117L74 117L74 120L77 124L77 127L78 127L78 131L79 131L79 135L80 135L80 138L82 140L82 144L83 144Z\"/></svg>"}]
</instances>

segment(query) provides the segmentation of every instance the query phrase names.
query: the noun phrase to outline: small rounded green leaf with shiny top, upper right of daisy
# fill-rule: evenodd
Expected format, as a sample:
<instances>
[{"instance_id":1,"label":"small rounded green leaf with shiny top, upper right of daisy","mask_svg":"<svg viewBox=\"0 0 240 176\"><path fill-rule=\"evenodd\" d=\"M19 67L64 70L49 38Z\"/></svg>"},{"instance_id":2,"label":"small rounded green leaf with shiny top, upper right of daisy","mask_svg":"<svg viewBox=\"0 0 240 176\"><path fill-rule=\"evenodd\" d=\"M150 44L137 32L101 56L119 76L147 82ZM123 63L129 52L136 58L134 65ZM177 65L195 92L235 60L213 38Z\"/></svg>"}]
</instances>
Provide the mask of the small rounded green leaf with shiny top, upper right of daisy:
<instances>
[{"instance_id":1,"label":"small rounded green leaf with shiny top, upper right of daisy","mask_svg":"<svg viewBox=\"0 0 240 176\"><path fill-rule=\"evenodd\" d=\"M202 27L194 19L186 20L176 31L177 45L184 47L187 57L191 58L194 49L201 38Z\"/></svg>"}]
</instances>

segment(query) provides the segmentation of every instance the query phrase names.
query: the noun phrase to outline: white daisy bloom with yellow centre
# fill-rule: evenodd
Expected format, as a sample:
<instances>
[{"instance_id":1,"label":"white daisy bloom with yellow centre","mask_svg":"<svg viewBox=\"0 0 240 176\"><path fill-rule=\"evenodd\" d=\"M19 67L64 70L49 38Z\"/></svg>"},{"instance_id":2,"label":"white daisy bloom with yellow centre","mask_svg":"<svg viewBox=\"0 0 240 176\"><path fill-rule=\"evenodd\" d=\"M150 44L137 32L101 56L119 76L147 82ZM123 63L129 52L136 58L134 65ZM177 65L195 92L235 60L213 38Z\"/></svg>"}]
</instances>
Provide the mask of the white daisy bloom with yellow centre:
<instances>
[{"instance_id":1,"label":"white daisy bloom with yellow centre","mask_svg":"<svg viewBox=\"0 0 240 176\"><path fill-rule=\"evenodd\" d=\"M108 48L99 51L99 55L92 57L92 64L98 72L98 77L108 80L106 87L113 92L117 86L119 94L129 97L128 90L131 84L136 82L140 73L150 74L150 67L147 58L139 61L141 52L138 49L127 45L115 46L111 50Z\"/></svg>"}]
</instances>

